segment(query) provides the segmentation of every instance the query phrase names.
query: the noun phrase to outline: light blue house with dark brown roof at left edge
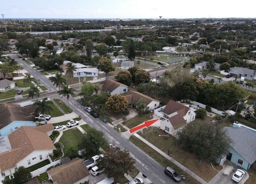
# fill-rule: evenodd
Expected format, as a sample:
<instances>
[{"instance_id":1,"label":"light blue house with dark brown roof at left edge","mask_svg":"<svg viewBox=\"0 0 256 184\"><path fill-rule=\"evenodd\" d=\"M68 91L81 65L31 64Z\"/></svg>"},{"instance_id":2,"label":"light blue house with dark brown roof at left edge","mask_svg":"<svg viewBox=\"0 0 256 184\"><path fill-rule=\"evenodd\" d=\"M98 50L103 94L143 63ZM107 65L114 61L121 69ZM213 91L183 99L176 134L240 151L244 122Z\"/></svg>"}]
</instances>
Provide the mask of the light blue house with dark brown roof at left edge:
<instances>
[{"instance_id":1,"label":"light blue house with dark brown roof at left edge","mask_svg":"<svg viewBox=\"0 0 256 184\"><path fill-rule=\"evenodd\" d=\"M22 126L36 126L32 105L21 107L18 104L0 105L0 137L9 135Z\"/></svg>"}]
</instances>

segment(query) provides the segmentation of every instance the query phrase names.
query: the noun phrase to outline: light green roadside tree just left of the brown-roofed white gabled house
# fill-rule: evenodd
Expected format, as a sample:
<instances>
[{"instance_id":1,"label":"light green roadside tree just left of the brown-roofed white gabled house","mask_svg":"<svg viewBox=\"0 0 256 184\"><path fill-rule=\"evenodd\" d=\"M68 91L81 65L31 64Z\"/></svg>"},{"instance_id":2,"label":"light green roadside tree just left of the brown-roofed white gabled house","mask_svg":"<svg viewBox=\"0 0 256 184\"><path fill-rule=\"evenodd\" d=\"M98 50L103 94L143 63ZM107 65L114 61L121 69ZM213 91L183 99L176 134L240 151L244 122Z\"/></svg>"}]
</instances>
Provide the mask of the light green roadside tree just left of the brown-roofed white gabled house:
<instances>
[{"instance_id":1,"label":"light green roadside tree just left of the brown-roofed white gabled house","mask_svg":"<svg viewBox=\"0 0 256 184\"><path fill-rule=\"evenodd\" d=\"M94 93L98 93L98 89L99 89L98 85L91 82L85 82L84 85L82 86L82 89L79 95L83 97L84 101L87 101L90 104L92 95L94 95Z\"/></svg>"}]
</instances>

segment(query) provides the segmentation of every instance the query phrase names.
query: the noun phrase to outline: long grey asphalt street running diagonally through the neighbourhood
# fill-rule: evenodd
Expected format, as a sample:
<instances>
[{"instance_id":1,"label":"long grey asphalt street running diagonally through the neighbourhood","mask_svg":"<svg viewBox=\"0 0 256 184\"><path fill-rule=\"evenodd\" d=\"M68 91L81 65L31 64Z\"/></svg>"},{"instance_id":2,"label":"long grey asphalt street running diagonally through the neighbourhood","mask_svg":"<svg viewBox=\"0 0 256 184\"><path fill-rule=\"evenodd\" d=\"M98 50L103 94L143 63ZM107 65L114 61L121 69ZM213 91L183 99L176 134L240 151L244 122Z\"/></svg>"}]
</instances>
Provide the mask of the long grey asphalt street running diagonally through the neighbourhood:
<instances>
[{"instance_id":1,"label":"long grey asphalt street running diagonally through the neighbourhood","mask_svg":"<svg viewBox=\"0 0 256 184\"><path fill-rule=\"evenodd\" d=\"M19 64L26 69L35 79L40 79L40 83L45 85L50 92L56 91L56 87L53 86L53 83L48 80L44 75L40 75L40 72L33 69L30 65L24 62L22 59L18 57L17 54L9 54L12 58L16 59ZM58 96L59 97L59 96ZM66 98L62 98L66 104L68 103ZM130 151L130 154L133 158L136 159L135 166L147 176L149 180L154 184L170 184L176 183L171 178L169 178L164 173L164 167L158 162L154 161L150 156L145 154L142 150L134 146L127 138L123 137L120 133L115 131L108 124L103 123L98 118L92 118L88 113L84 111L84 107L80 105L73 97L69 99L70 108L77 114L82 117L82 119L90 125L90 127L95 127L99 131L103 131L105 134L106 140L108 140L109 144L118 146L120 148L127 148ZM184 183L184 182L180 182Z\"/></svg>"}]
</instances>

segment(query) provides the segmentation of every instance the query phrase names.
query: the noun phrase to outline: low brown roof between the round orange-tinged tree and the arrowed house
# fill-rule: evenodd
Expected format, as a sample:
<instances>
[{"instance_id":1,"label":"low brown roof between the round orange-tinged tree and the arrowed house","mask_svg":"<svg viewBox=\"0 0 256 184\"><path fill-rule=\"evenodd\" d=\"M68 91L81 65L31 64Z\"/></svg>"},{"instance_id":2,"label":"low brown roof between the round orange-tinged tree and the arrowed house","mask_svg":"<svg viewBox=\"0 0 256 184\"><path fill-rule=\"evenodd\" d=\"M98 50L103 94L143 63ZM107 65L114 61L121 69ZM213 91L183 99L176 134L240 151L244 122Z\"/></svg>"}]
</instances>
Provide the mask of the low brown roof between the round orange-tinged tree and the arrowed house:
<instances>
[{"instance_id":1,"label":"low brown roof between the round orange-tinged tree and the arrowed house","mask_svg":"<svg viewBox=\"0 0 256 184\"><path fill-rule=\"evenodd\" d=\"M148 105L152 101L159 102L158 100L153 99L153 98L151 98L151 97L149 97L147 95L144 95L143 93L140 93L138 91L129 90L127 93L125 93L124 96L126 97L126 99L128 101L128 104L131 104L131 103L132 104L136 104L136 103L138 103L140 98L145 99L146 105Z\"/></svg>"}]
</instances>

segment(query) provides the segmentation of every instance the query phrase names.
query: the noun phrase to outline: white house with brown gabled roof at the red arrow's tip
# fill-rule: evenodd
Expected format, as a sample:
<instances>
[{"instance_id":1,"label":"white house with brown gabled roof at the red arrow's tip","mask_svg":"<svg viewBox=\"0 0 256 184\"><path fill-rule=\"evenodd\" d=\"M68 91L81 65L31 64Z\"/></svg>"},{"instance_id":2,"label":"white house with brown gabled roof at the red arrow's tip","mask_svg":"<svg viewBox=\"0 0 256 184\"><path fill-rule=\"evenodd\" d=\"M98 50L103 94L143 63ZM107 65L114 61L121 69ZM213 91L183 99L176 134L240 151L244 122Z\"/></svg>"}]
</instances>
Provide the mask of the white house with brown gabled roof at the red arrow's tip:
<instances>
[{"instance_id":1,"label":"white house with brown gabled roof at the red arrow's tip","mask_svg":"<svg viewBox=\"0 0 256 184\"><path fill-rule=\"evenodd\" d=\"M176 129L196 118L195 109L172 100L167 105L156 109L154 114L164 119L160 124L160 129L171 135Z\"/></svg>"}]
</instances>

